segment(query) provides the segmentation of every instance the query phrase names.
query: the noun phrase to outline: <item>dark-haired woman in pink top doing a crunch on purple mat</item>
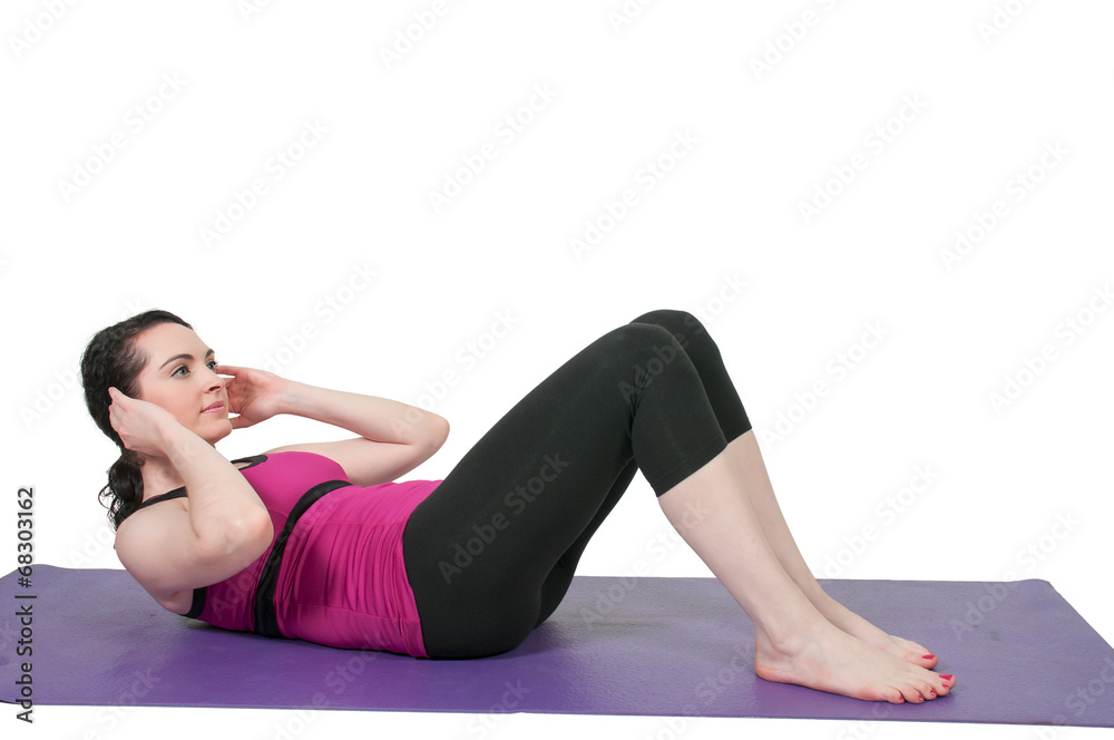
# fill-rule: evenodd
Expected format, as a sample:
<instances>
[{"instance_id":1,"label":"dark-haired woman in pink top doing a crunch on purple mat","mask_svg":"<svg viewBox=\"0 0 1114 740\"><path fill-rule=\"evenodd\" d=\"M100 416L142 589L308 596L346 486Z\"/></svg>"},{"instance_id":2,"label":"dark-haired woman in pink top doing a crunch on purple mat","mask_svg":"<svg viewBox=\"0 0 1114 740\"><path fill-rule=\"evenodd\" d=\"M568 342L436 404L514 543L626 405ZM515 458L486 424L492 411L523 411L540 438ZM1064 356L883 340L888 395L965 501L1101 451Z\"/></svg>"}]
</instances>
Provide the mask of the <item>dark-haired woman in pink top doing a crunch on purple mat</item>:
<instances>
[{"instance_id":1,"label":"dark-haired woman in pink top doing a crunch on purple mat","mask_svg":"<svg viewBox=\"0 0 1114 740\"><path fill-rule=\"evenodd\" d=\"M821 590L719 348L686 312L652 311L588 344L441 481L394 479L440 448L443 418L219 364L165 311L100 331L81 371L121 450L101 491L117 554L177 614L416 656L505 652L560 603L641 469L753 622L758 675L895 703L955 687L925 648ZM233 461L214 448L278 413L359 437Z\"/></svg>"}]
</instances>

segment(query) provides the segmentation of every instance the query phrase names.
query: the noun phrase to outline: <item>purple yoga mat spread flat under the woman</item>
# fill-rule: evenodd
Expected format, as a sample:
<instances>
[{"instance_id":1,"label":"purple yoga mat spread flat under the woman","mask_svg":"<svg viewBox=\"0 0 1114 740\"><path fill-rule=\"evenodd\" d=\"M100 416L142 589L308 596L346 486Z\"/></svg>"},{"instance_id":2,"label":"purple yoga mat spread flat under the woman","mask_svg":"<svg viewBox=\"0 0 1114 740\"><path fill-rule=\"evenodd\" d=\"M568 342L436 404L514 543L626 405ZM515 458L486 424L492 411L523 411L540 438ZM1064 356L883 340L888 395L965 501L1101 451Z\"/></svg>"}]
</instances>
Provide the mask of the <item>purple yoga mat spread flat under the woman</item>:
<instances>
[{"instance_id":1,"label":"purple yoga mat spread flat under the woman","mask_svg":"<svg viewBox=\"0 0 1114 740\"><path fill-rule=\"evenodd\" d=\"M123 569L36 565L0 578L0 700L1114 727L1114 649L1046 581L821 581L954 673L947 697L867 702L754 675L754 630L714 578L577 576L517 649L419 660L267 639L186 620ZM17 598L33 594L36 598ZM30 632L14 616L32 603ZM31 640L33 654L17 655ZM674 722L681 720L672 720Z\"/></svg>"}]
</instances>

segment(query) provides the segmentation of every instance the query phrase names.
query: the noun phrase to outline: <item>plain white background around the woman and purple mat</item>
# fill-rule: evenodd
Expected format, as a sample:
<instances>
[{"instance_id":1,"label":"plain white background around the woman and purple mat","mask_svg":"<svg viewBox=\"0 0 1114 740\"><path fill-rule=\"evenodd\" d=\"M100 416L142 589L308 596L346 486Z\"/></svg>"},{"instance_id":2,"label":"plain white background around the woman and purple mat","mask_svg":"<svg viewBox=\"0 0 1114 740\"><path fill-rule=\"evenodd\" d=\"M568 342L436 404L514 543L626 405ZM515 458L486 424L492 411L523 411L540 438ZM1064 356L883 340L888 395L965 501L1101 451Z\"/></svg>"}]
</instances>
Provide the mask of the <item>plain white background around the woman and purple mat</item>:
<instances>
[{"instance_id":1,"label":"plain white background around the woman and purple mat","mask_svg":"<svg viewBox=\"0 0 1114 740\"><path fill-rule=\"evenodd\" d=\"M617 0L472 0L427 30L429 1L56 4L53 19L9 0L0 19L2 489L12 514L16 488L36 488L38 562L120 567L96 497L115 447L74 369L94 332L139 310L178 313L225 362L274 357L299 380L432 408L452 434L408 477L442 478L584 344L678 308L716 338L819 575L1043 578L1114 641L1108 3L628 3L641 11L616 25ZM296 162L280 178L281 152ZM467 177L482 152L496 156ZM467 184L436 208L458 172ZM237 210L255 179L266 192ZM602 218L624 191L634 204ZM577 252L589 223L602 238ZM871 325L882 340L867 347ZM466 364L469 342L486 349ZM1042 348L1053 359L1026 372ZM837 374L841 356L853 367ZM1007 378L1024 388L996 407ZM801 400L818 382L828 392ZM283 418L221 449L344 436ZM931 483L883 518L918 467ZM579 573L629 572L667 527L637 477ZM651 575L710 573L677 547ZM958 644L931 648L946 663ZM92 708L36 717L39 734L263 739L293 713L137 709L110 733ZM673 737L653 717L496 719L323 712L299 737ZM786 728L852 729L705 720L683 736ZM1036 737L869 736L939 729Z\"/></svg>"}]
</instances>

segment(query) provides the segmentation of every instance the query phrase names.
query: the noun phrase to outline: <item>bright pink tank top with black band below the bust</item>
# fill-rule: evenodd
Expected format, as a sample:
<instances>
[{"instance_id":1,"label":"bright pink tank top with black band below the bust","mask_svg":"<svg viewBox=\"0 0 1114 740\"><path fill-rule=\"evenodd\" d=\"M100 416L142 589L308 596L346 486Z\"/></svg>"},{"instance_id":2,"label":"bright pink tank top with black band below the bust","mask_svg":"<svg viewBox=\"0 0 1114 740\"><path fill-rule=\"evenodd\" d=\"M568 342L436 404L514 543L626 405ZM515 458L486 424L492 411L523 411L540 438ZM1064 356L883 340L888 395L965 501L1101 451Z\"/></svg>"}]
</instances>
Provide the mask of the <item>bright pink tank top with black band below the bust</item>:
<instances>
[{"instance_id":1,"label":"bright pink tank top with black band below the bust","mask_svg":"<svg viewBox=\"0 0 1114 740\"><path fill-rule=\"evenodd\" d=\"M356 486L338 463L313 452L243 459L252 461L242 473L271 513L274 539L240 573L195 588L185 616L226 630L426 658L402 530L441 481ZM143 506L185 493L153 496Z\"/></svg>"}]
</instances>

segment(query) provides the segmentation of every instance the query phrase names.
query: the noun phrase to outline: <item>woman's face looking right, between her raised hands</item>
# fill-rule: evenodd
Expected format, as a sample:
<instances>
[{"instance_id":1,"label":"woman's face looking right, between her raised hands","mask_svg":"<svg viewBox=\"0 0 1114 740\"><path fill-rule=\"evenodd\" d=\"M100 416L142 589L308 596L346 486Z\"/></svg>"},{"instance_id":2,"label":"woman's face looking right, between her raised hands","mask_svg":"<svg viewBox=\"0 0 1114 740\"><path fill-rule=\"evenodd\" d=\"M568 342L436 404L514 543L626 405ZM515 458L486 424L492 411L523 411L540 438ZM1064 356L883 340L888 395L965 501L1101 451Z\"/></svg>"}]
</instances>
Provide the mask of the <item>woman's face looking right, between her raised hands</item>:
<instances>
[{"instance_id":1,"label":"woman's face looking right, between her raised hands","mask_svg":"<svg viewBox=\"0 0 1114 740\"><path fill-rule=\"evenodd\" d=\"M211 445L232 432L225 379L213 371L213 350L192 329L160 323L136 344L147 357L138 378L140 399L163 407Z\"/></svg>"}]
</instances>

